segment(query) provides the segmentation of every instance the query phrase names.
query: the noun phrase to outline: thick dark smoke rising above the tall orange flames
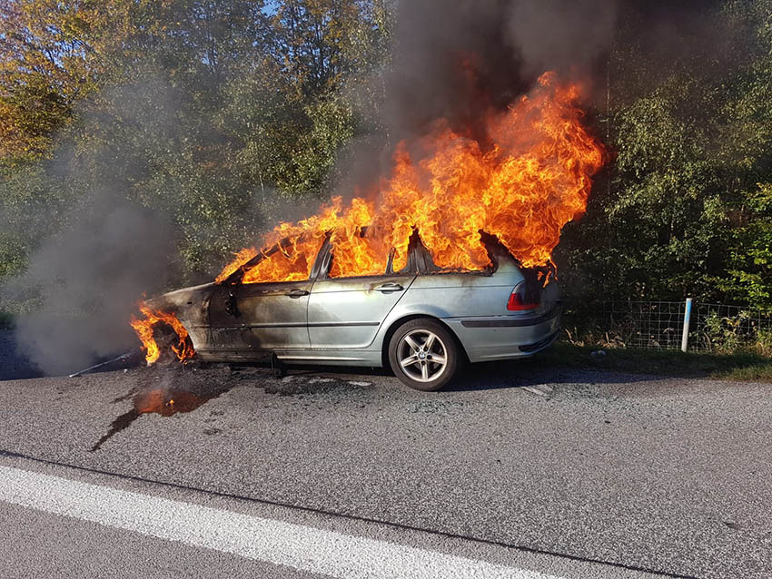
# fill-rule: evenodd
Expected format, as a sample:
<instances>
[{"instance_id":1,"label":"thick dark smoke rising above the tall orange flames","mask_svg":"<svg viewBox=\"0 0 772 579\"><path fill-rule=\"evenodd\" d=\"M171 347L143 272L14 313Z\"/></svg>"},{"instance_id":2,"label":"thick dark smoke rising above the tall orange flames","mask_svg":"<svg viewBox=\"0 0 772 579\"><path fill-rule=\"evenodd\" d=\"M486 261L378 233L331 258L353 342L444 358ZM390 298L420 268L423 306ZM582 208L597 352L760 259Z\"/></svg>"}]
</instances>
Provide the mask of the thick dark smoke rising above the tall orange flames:
<instances>
[{"instance_id":1,"label":"thick dark smoke rising above the tall orange flames","mask_svg":"<svg viewBox=\"0 0 772 579\"><path fill-rule=\"evenodd\" d=\"M554 70L591 77L613 39L616 0L403 0L386 123L393 140L438 118L484 144L485 113Z\"/></svg>"}]
</instances>

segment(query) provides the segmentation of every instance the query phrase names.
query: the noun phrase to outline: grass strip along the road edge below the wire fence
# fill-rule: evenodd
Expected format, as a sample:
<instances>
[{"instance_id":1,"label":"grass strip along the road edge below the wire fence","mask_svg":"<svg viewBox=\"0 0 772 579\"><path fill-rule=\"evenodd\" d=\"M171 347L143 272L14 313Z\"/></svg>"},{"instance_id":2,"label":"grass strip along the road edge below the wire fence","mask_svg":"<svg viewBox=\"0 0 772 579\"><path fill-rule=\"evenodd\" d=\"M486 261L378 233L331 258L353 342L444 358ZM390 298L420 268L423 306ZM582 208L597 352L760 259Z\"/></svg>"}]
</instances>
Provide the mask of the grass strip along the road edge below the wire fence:
<instances>
[{"instance_id":1,"label":"grass strip along the road edge below the wire fence","mask_svg":"<svg viewBox=\"0 0 772 579\"><path fill-rule=\"evenodd\" d=\"M722 378L772 382L772 358L753 352L707 354L672 350L607 348L605 356L593 357L599 348L558 342L539 354L549 364L579 368L604 368L639 374L678 378Z\"/></svg>"}]
</instances>

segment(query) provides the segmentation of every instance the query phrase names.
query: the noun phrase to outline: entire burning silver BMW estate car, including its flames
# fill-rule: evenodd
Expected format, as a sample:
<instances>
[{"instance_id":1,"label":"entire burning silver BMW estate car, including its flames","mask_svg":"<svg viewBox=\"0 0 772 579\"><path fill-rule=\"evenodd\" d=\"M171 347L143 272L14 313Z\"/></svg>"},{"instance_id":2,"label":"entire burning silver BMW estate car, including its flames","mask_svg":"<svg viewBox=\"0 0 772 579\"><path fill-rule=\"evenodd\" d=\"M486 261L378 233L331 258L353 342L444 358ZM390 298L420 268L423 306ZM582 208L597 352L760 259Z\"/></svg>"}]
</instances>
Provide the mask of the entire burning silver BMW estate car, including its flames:
<instances>
[{"instance_id":1,"label":"entire burning silver BMW estate car, including its flames","mask_svg":"<svg viewBox=\"0 0 772 579\"><path fill-rule=\"evenodd\" d=\"M391 367L434 390L462 361L546 348L560 323L551 252L587 207L605 159L579 87L544 74L478 142L437 123L396 148L391 174L283 222L213 283L142 306L149 363L185 360ZM159 329L167 329L159 345Z\"/></svg>"}]
</instances>

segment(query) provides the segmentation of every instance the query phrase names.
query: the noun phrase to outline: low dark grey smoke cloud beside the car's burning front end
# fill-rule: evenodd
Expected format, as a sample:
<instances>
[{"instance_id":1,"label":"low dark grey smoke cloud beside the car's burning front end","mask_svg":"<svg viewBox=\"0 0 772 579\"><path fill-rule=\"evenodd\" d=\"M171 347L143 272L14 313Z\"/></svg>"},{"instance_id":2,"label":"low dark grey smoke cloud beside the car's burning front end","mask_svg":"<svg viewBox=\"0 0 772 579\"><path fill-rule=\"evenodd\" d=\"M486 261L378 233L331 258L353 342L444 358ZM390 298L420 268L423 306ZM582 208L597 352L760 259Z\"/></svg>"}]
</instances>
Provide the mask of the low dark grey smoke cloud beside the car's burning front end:
<instances>
[{"instance_id":1,"label":"low dark grey smoke cloud beside the car's burning front end","mask_svg":"<svg viewBox=\"0 0 772 579\"><path fill-rule=\"evenodd\" d=\"M94 200L87 216L35 251L9 288L37 291L41 307L17 321L16 340L46 374L85 368L95 358L136 346L128 326L144 291L163 289L168 269L153 256L171 254L168 223L111 195Z\"/></svg>"}]
</instances>

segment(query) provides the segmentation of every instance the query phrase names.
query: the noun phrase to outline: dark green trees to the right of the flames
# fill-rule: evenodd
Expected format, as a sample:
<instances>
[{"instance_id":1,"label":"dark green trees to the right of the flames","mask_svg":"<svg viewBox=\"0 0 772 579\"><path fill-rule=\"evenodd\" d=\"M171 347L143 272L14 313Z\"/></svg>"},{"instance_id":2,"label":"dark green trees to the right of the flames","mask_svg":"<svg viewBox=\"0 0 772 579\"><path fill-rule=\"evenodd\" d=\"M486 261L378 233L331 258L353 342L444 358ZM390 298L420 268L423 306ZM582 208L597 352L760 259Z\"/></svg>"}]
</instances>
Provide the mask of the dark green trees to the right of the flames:
<instances>
[{"instance_id":1,"label":"dark green trees to the right of the flames","mask_svg":"<svg viewBox=\"0 0 772 579\"><path fill-rule=\"evenodd\" d=\"M663 64L620 26L604 119L614 163L558 256L575 300L692 296L772 311L772 2L711 10L717 43L728 38L721 54L678 47Z\"/></svg>"}]
</instances>

